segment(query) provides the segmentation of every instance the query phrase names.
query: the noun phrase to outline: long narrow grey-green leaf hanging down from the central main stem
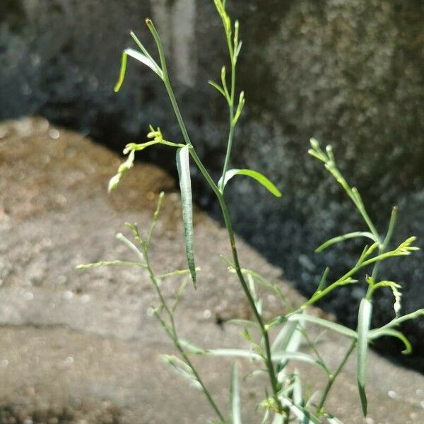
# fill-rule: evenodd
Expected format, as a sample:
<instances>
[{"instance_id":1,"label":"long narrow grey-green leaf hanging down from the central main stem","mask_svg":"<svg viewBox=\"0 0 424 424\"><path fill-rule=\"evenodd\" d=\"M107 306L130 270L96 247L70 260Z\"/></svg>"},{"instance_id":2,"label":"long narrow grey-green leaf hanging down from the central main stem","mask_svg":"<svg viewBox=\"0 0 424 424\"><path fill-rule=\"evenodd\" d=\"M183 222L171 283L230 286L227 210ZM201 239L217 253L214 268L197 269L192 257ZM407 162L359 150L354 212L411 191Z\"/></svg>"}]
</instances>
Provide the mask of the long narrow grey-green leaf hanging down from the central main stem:
<instances>
[{"instance_id":1,"label":"long narrow grey-green leaf hanging down from the central main stem","mask_svg":"<svg viewBox=\"0 0 424 424\"><path fill-rule=\"evenodd\" d=\"M177 169L179 176L179 188L181 189L182 221L184 225L184 245L187 262L194 288L196 288L196 265L194 264L193 251L193 201L192 182L190 178L189 146L177 150Z\"/></svg>"}]
</instances>

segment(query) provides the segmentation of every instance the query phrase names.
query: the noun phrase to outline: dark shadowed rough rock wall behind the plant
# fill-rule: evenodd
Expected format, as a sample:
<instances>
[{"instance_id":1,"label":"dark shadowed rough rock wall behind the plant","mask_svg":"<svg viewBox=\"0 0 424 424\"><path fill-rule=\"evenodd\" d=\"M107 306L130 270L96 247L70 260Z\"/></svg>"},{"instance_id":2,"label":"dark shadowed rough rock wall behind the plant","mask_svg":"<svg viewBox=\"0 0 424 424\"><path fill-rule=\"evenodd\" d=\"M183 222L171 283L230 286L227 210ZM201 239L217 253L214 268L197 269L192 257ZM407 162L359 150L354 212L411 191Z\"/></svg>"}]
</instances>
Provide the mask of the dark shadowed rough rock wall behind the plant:
<instances>
[{"instance_id":1,"label":"dark shadowed rough rock wall behind the plant","mask_svg":"<svg viewBox=\"0 0 424 424\"><path fill-rule=\"evenodd\" d=\"M231 192L237 230L306 293L324 264L336 275L355 260L351 245L346 254L313 254L326 238L363 228L336 185L307 158L307 140L316 136L334 145L379 230L399 204L396 241L411 234L423 240L423 2L228 4L242 19L239 83L248 99L234 162L269 175L284 193L283 201L269 201L250 182L238 184ZM145 16L153 16L163 33L184 117L218 175L225 109L205 83L217 78L225 45L212 1L2 1L0 118L44 114L119 148L149 123L177 137L164 90L147 69L131 63L122 92L112 94L120 52L131 44L128 30L152 47ZM149 154L170 169L173 153ZM197 199L210 206L207 193ZM384 268L385 278L406 286L406 312L424 304L423 259L418 253ZM357 302L350 291L340 290L328 307L354 325ZM363 289L353 294L360 298ZM375 324L391 316L389 293L376 310ZM422 354L423 322L407 331Z\"/></svg>"}]
</instances>

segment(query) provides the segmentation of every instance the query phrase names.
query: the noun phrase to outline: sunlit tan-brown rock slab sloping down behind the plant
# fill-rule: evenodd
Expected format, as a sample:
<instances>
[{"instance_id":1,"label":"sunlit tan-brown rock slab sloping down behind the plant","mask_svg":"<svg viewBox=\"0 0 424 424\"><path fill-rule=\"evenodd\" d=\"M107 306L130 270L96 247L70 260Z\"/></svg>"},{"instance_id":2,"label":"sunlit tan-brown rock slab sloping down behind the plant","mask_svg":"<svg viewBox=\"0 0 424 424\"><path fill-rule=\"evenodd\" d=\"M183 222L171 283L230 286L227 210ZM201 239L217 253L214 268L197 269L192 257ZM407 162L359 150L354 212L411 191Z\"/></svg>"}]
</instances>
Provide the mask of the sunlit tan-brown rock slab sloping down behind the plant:
<instances>
[{"instance_id":1,"label":"sunlit tan-brown rock slab sloping down behind the plant","mask_svg":"<svg viewBox=\"0 0 424 424\"><path fill-rule=\"evenodd\" d=\"M152 165L136 165L107 196L107 179L119 163L107 149L45 119L1 124L0 133L0 423L159 424L170 417L204 423L211 413L202 396L158 361L172 346L148 314L155 293L146 273L74 268L128 258L113 235L125 221L147 223L161 190L167 197L153 243L155 266L184 266L173 179ZM237 329L216 324L218 317L248 317L237 282L218 258L217 252L228 252L225 230L196 213L195 234L202 272L199 289L187 288L182 298L182 334L210 348L242 346ZM292 302L302 302L280 271L243 242L240 257L281 285ZM166 283L168 296L174 284ZM266 305L276 312L272 298ZM347 344L326 334L319 350L333 367ZM224 404L230 363L199 364ZM322 381L320 370L300 364L300 372L312 384ZM243 391L245 423L259 421L257 387L252 380ZM371 353L367 423L423 421L423 387L422 375ZM346 423L363 423L356 390L353 358L329 402Z\"/></svg>"}]
</instances>

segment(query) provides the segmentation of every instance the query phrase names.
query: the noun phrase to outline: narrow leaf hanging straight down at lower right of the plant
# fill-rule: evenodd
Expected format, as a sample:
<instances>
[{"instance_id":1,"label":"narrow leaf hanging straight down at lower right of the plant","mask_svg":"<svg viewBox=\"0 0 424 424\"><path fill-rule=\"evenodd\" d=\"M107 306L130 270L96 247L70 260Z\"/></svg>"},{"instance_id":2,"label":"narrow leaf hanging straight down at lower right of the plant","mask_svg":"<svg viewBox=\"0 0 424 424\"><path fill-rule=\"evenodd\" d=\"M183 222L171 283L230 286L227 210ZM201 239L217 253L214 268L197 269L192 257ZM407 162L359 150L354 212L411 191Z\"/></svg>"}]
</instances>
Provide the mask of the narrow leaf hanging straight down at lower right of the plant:
<instances>
[{"instance_id":1,"label":"narrow leaf hanging straight down at lower right of the plant","mask_svg":"<svg viewBox=\"0 0 424 424\"><path fill-rule=\"evenodd\" d=\"M370 330L372 303L363 299L358 313L358 389L363 414L367 416L367 394L365 382L367 378L368 331Z\"/></svg>"}]
</instances>

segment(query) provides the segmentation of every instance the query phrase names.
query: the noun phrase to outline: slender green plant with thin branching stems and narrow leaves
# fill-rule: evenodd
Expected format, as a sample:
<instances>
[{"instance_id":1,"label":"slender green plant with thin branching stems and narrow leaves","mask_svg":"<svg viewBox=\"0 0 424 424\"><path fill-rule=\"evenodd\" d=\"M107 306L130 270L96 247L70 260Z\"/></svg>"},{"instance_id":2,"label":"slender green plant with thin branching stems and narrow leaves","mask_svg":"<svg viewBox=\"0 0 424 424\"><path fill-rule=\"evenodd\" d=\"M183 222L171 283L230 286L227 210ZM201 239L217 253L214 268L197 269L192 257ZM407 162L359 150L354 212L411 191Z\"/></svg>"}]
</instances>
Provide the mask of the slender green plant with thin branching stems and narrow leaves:
<instances>
[{"instance_id":1,"label":"slender green plant with thin branching stems and narrow leaves","mask_svg":"<svg viewBox=\"0 0 424 424\"><path fill-rule=\"evenodd\" d=\"M285 299L281 288L278 285L267 281L258 271L242 268L237 254L237 244L228 206L225 202L225 186L230 179L236 176L246 176L255 179L259 184L268 189L274 196L281 196L277 187L264 175L259 172L248 169L230 169L232 142L235 134L235 127L242 114L245 106L245 95L243 92L236 91L236 69L237 59L239 58L242 42L240 41L240 24L238 21L232 22L228 12L226 11L225 0L214 0L216 10L223 23L225 40L228 45L229 65L223 66L219 82L209 81L209 84L216 89L216 92L223 97L223 101L228 105L229 131L228 144L223 163L222 176L216 182L211 174L206 170L204 163L196 152L196 146L190 139L189 133L184 125L182 114L179 111L174 90L167 71L167 62L163 49L160 35L155 25L150 19L146 19L146 25L151 31L155 44L158 47L159 62L155 61L151 54L146 50L140 40L134 33L131 33L138 49L125 49L122 56L122 69L119 81L115 87L118 91L124 81L126 72L126 60L128 57L140 61L148 66L163 81L167 95L170 98L175 117L181 129L182 139L178 142L168 141L164 138L159 128L150 127L147 134L147 141L144 143L130 143L124 149L127 155L126 160L119 167L117 175L112 177L109 184L109 190L113 190L119 184L124 173L133 167L134 155L137 151L155 144L162 144L176 150L176 162L179 175L179 185L181 189L182 200L182 221L184 232L184 245L187 253L186 270L169 271L158 273L153 269L150 257L151 237L157 223L160 213L160 206L163 202L163 193L158 198L158 207L153 215L153 220L147 230L146 235L142 235L136 224L127 223L129 232L133 241L122 234L117 238L124 243L131 253L135 254L134 261L102 261L96 264L87 264L79 266L81 269L88 269L93 266L135 266L145 269L150 277L151 283L158 295L158 305L153 309L155 317L160 322L167 335L174 344L177 355L165 355L166 362L177 371L179 375L186 377L189 382L198 386L203 391L208 403L211 405L212 412L215 414L214 423L240 424L242 423L242 401L240 399L240 380L238 377L237 367L232 367L232 375L230 379L230 401L227 407L218 405L213 398L211 391L208 390L204 379L201 377L201 371L198 370L192 362L194 355L207 355L216 357L229 358L245 358L257 365L257 372L267 375L268 385L264 388L265 399L258 405L258 411L261 416L257 417L258 423L287 424L289 422L298 423L341 423L338 418L331 415L326 409L326 400L331 394L334 381L340 375L348 358L355 353L358 364L357 380L358 394L363 409L363 415L367 415L367 394L366 394L366 376L367 376L367 350L370 343L382 336L392 336L399 338L405 346L404 353L411 352L411 344L397 327L408 319L414 319L422 314L424 310L417 310L411 314L401 315L401 286L394 281L385 281L379 277L379 266L383 261L387 261L392 257L408 256L417 250L413 246L415 237L410 237L397 247L389 247L391 236L396 224L396 208L391 213L391 219L387 228L387 232L382 236L372 223L368 215L365 205L357 189L351 187L346 179L338 170L336 159L334 158L331 146L327 146L322 150L318 141L311 140L310 155L321 161L328 172L334 177L336 182L341 185L343 190L351 199L353 206L363 218L364 228L346 235L332 238L317 248L317 252L335 245L336 243L345 242L353 238L361 237L368 240L368 244L363 248L362 254L358 257L358 261L353 264L352 268L343 276L336 280L329 281L329 269L325 269L322 274L321 281L312 297L301 307L290 307L288 312L274 317L271 320L264 318L264 290L271 290L281 299L281 310L287 310L288 301ZM232 252L232 259L228 260L228 271L235 273L240 281L240 288L244 292L249 307L252 310L252 321L235 320L234 324L242 327L242 336L249 342L249 349L224 349L224 348L207 348L195 346L190 341L183 340L179 337L177 326L175 323L175 310L178 307L179 299L184 292L184 283L187 276L190 276L194 287L196 287L196 275L199 269L196 269L194 263L194 243L193 243L193 212L192 212L192 187L190 181L190 166L199 168L208 186L215 194L218 200L220 210L223 214L223 220L228 230L228 239ZM184 275L186 278L184 278ZM175 293L175 300L171 303L165 299L160 282L165 278L180 278L183 283ZM334 322L315 317L308 314L308 307L324 298L338 287L348 284L365 284L367 293L365 298L361 300L358 310L358 327L355 330L346 326L336 324ZM387 288L394 295L394 319L384 326L376 329L370 328L372 319L372 298L377 290ZM259 295L259 293L262 293ZM316 341L308 335L308 326L321 326L326 330L335 331L351 340L350 346L341 358L340 363L335 368L331 368L319 353L319 346ZM303 353L299 351L301 341L310 346L310 352ZM314 395L307 394L305 388L308 382L300 377L300 373L296 370L293 363L308 363L311 366L319 367L324 373L321 389ZM244 380L243 380L244 381Z\"/></svg>"}]
</instances>

